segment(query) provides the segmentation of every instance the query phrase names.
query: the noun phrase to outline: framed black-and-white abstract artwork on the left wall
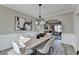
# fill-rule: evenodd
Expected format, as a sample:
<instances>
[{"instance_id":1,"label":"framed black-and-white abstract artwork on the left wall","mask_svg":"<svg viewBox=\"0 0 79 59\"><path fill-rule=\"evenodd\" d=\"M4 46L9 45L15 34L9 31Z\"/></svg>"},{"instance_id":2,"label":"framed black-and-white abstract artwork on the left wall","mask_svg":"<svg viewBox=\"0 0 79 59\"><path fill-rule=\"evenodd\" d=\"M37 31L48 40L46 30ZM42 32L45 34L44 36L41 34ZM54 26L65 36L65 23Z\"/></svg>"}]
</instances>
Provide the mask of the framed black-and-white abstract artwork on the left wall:
<instances>
[{"instance_id":1,"label":"framed black-and-white abstract artwork on the left wall","mask_svg":"<svg viewBox=\"0 0 79 59\"><path fill-rule=\"evenodd\" d=\"M16 31L32 30L32 20L15 16L14 30Z\"/></svg>"}]
</instances>

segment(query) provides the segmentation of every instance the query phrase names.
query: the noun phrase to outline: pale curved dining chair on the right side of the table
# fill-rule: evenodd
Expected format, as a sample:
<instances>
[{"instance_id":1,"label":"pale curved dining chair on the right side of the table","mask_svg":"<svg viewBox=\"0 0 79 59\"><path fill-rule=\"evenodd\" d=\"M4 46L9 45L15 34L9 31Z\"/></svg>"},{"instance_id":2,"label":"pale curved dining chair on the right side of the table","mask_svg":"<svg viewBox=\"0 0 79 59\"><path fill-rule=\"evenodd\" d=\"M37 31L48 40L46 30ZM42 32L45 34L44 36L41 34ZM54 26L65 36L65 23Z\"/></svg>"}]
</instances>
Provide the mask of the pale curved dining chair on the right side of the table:
<instances>
[{"instance_id":1,"label":"pale curved dining chair on the right side of the table","mask_svg":"<svg viewBox=\"0 0 79 59\"><path fill-rule=\"evenodd\" d=\"M46 44L42 44L36 48L38 54L48 54L49 49L54 43L54 38L49 39Z\"/></svg>"}]
</instances>

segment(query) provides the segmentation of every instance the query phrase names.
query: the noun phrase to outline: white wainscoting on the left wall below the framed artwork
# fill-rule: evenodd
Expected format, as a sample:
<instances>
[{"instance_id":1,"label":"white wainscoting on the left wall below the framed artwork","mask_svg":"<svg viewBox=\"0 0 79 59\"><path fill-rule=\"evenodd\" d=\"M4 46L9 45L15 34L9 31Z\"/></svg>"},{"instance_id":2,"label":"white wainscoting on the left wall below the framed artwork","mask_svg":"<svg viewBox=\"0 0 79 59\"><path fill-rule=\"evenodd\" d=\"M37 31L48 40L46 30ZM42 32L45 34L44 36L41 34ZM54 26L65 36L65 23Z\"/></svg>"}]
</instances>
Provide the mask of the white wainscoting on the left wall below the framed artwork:
<instances>
[{"instance_id":1,"label":"white wainscoting on the left wall below the framed artwork","mask_svg":"<svg viewBox=\"0 0 79 59\"><path fill-rule=\"evenodd\" d=\"M15 42L17 42L19 44L19 39L20 39L21 35L24 36L24 37L27 37L27 36L36 37L37 32L30 31L30 32L27 32L27 33L0 35L0 51L12 47L12 40L14 40Z\"/></svg>"}]
</instances>

